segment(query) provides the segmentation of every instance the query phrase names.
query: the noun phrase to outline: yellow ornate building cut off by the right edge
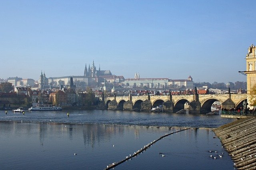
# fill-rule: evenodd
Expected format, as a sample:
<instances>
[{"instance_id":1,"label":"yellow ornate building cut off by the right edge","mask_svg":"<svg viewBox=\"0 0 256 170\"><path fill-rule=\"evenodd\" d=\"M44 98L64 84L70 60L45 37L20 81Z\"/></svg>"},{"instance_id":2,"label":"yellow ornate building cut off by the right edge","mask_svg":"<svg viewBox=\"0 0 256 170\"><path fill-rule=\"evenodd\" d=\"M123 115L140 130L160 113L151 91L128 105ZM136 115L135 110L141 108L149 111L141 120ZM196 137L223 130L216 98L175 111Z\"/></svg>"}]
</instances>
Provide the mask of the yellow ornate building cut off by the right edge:
<instances>
[{"instance_id":1,"label":"yellow ornate building cut off by the right edge","mask_svg":"<svg viewBox=\"0 0 256 170\"><path fill-rule=\"evenodd\" d=\"M247 76L247 94L250 95L252 87L256 84L256 47L251 44L248 48L248 53L246 54L246 73ZM248 96L247 96L248 98ZM247 100L248 101L248 100ZM248 101L249 107L250 101Z\"/></svg>"}]
</instances>

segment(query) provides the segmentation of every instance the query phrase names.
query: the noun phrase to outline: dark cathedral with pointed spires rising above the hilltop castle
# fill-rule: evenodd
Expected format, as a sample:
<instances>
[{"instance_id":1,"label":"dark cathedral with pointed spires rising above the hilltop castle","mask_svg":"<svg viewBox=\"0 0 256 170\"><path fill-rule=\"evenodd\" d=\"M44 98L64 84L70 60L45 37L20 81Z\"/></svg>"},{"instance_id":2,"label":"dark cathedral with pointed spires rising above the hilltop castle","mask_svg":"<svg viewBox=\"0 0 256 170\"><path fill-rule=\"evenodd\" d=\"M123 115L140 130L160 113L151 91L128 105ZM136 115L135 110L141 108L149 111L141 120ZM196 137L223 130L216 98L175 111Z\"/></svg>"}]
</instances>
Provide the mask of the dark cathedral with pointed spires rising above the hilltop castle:
<instances>
[{"instance_id":1,"label":"dark cathedral with pointed spires rising above the hilltop castle","mask_svg":"<svg viewBox=\"0 0 256 170\"><path fill-rule=\"evenodd\" d=\"M98 78L100 76L105 76L105 75L112 75L112 73L110 72L110 70L97 70L95 65L94 65L94 61L92 62L92 67L89 67L87 69L87 66L85 64L85 68L84 68L84 77L88 77L88 78Z\"/></svg>"}]
</instances>

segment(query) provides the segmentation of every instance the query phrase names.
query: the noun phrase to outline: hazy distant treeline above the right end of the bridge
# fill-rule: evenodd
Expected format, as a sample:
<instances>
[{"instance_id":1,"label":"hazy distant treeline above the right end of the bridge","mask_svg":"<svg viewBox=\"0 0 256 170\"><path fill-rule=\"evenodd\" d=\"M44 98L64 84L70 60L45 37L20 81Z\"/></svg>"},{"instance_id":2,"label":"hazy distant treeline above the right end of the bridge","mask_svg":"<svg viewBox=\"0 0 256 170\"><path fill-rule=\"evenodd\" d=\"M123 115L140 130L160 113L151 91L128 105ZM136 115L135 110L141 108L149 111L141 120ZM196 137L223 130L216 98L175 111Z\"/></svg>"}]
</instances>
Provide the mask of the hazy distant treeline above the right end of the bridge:
<instances>
[{"instance_id":1,"label":"hazy distant treeline above the right end of the bridge","mask_svg":"<svg viewBox=\"0 0 256 170\"><path fill-rule=\"evenodd\" d=\"M212 84L209 82L199 82L199 83L194 83L195 87L203 87L203 86L208 86L208 88L210 89L227 89L228 86L226 85L226 83L218 83L216 81L214 81ZM234 84L230 85L230 89L247 89L247 85L246 82L244 81L236 81Z\"/></svg>"}]
</instances>

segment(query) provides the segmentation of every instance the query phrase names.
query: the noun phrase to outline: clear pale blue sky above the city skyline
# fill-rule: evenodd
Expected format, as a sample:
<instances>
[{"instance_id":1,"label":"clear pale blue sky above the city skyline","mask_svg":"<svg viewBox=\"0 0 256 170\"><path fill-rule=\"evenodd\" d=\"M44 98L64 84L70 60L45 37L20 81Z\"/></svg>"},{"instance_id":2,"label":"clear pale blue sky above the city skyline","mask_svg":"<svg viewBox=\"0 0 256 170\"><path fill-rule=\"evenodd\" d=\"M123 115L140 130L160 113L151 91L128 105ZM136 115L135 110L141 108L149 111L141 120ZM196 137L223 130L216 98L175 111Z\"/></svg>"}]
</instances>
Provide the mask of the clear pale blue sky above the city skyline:
<instances>
[{"instance_id":1,"label":"clear pale blue sky above the city skyline","mask_svg":"<svg viewBox=\"0 0 256 170\"><path fill-rule=\"evenodd\" d=\"M0 78L83 75L246 81L249 0L0 0Z\"/></svg>"}]
</instances>

